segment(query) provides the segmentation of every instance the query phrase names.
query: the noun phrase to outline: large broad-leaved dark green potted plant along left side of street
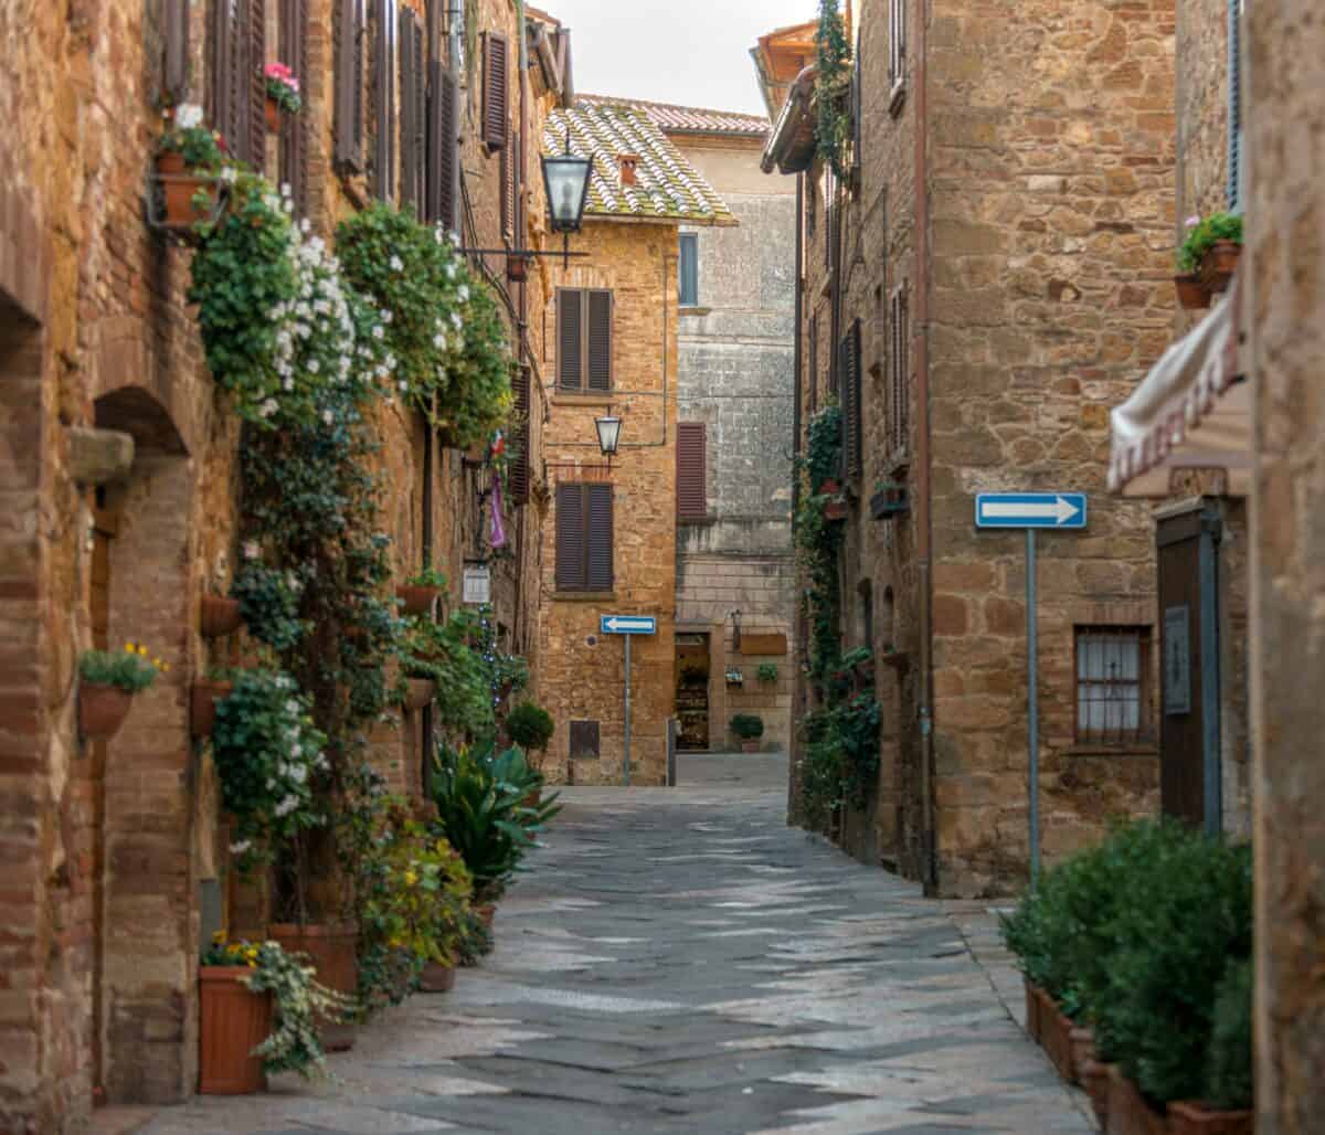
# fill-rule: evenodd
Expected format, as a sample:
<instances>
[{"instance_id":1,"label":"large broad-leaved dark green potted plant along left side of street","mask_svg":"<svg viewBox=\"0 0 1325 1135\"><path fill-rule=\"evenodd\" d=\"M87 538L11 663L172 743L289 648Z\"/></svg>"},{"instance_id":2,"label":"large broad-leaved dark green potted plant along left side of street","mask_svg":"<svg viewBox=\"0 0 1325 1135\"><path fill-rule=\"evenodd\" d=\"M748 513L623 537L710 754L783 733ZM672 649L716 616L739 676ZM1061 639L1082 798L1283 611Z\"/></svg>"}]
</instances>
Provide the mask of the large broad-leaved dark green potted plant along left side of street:
<instances>
[{"instance_id":1,"label":"large broad-leaved dark green potted plant along left side of street","mask_svg":"<svg viewBox=\"0 0 1325 1135\"><path fill-rule=\"evenodd\" d=\"M440 834L460 852L474 878L480 903L501 897L542 826L559 811L556 796L526 803L543 776L511 746L450 748L439 743L432 777Z\"/></svg>"}]
</instances>

